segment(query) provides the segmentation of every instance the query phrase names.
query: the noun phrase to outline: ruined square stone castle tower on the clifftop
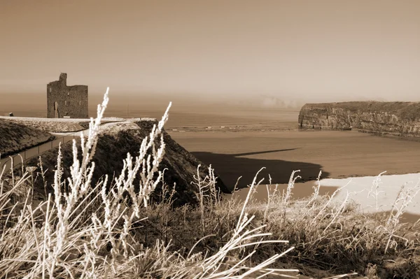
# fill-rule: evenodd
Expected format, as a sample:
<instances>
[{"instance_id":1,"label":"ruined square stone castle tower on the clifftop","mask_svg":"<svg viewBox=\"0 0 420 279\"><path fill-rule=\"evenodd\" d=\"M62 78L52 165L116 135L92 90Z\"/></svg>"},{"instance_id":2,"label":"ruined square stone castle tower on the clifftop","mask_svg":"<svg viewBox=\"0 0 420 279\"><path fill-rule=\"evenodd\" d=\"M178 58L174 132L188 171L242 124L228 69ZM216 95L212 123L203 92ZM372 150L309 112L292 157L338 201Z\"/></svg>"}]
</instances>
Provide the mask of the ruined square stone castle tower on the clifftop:
<instances>
[{"instance_id":1,"label":"ruined square stone castle tower on the clifftop","mask_svg":"<svg viewBox=\"0 0 420 279\"><path fill-rule=\"evenodd\" d=\"M88 118L87 85L67 86L67 74L47 85L48 118Z\"/></svg>"}]
</instances>

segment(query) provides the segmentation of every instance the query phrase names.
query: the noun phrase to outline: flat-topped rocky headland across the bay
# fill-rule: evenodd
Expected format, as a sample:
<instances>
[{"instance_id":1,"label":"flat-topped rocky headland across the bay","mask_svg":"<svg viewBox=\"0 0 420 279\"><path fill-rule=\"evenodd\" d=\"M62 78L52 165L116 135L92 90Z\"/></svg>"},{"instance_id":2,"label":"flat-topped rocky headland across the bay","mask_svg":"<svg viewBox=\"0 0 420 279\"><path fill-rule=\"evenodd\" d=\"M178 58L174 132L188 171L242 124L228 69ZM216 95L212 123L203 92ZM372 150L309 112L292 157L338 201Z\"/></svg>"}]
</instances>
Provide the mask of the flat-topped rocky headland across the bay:
<instances>
[{"instance_id":1,"label":"flat-topped rocky headland across the bay","mask_svg":"<svg viewBox=\"0 0 420 279\"><path fill-rule=\"evenodd\" d=\"M298 125L300 129L420 136L420 102L307 103L300 109Z\"/></svg>"}]
</instances>

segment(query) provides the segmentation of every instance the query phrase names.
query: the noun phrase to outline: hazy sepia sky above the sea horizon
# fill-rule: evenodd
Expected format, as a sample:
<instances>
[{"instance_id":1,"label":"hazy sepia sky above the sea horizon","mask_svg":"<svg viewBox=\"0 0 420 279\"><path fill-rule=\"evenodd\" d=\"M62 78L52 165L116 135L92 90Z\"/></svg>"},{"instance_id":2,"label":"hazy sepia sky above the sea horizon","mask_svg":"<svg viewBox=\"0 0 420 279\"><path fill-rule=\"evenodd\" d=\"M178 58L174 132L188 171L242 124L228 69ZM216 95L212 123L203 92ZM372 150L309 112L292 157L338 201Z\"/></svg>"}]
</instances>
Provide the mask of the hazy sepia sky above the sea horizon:
<instances>
[{"instance_id":1,"label":"hazy sepia sky above the sea horizon","mask_svg":"<svg viewBox=\"0 0 420 279\"><path fill-rule=\"evenodd\" d=\"M420 1L0 0L0 94L420 101Z\"/></svg>"}]
</instances>

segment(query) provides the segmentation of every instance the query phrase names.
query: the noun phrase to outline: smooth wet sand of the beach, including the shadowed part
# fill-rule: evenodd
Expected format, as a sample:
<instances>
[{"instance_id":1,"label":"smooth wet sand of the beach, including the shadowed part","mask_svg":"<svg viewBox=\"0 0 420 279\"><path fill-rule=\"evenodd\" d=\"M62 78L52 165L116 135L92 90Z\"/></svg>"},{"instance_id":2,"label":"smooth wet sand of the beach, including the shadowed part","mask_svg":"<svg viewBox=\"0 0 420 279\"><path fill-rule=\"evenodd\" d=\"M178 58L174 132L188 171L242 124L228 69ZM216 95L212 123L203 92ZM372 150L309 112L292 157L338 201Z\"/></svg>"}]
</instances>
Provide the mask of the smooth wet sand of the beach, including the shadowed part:
<instances>
[{"instance_id":1,"label":"smooth wet sand of the beach, including the shadowed part","mask_svg":"<svg viewBox=\"0 0 420 279\"><path fill-rule=\"evenodd\" d=\"M268 183L287 183L293 170L302 180L417 173L420 143L372 136L357 131L202 131L170 132L172 138L198 159L212 164L227 185L252 182L260 173ZM302 182L302 180L297 180Z\"/></svg>"}]
</instances>

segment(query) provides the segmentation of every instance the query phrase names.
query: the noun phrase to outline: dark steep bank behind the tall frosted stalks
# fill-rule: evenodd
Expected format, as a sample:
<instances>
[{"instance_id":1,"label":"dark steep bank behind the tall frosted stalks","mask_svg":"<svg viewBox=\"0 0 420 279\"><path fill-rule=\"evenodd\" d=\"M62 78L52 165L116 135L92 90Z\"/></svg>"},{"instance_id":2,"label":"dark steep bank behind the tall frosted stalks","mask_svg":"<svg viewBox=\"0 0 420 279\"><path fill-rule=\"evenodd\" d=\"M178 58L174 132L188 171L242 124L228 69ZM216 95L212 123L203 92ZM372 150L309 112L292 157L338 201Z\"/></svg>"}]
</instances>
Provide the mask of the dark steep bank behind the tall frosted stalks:
<instances>
[{"instance_id":1,"label":"dark steep bank behind the tall frosted stalks","mask_svg":"<svg viewBox=\"0 0 420 279\"><path fill-rule=\"evenodd\" d=\"M133 157L138 156L141 141L150 134L153 124L157 123L156 120L132 119L125 122L107 124L106 127L103 127L99 134L95 155L92 159L95 163L92 184L94 185L94 183L105 174L108 174L110 179L112 179L113 176L119 176L121 169L123 169L123 159L127 157L127 152L130 152ZM197 166L201 164L200 176L204 178L208 174L208 166L200 162L191 155L190 152L176 143L166 131L163 131L163 135L166 145L165 157L162 160L159 169L161 171L167 169L167 171L165 171L164 180L165 184L168 185L169 190L174 187L175 183L176 193L174 194L174 205L181 206L186 203L195 204L197 203L195 198L197 189L195 185L191 184L192 181L195 181L193 176L197 176ZM80 146L80 143L78 143L78 146ZM73 164L71 150L71 142L62 146L64 179L69 177L69 167ZM58 148L54 148L41 155L44 171L45 169L48 169L45 173L48 186L51 185L54 180L53 170L57 164L57 153ZM26 165L36 166L37 164L38 159L34 158L27 162ZM36 179L35 183L36 189L43 192L44 188L41 179ZM220 179L217 180L216 187L218 187L221 192L230 192ZM156 194L160 193L160 190L161 185L156 189ZM48 187L47 191L52 191L52 189ZM157 196L155 197L157 199Z\"/></svg>"}]
</instances>

